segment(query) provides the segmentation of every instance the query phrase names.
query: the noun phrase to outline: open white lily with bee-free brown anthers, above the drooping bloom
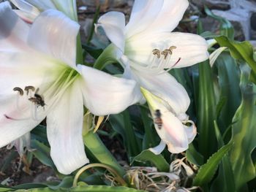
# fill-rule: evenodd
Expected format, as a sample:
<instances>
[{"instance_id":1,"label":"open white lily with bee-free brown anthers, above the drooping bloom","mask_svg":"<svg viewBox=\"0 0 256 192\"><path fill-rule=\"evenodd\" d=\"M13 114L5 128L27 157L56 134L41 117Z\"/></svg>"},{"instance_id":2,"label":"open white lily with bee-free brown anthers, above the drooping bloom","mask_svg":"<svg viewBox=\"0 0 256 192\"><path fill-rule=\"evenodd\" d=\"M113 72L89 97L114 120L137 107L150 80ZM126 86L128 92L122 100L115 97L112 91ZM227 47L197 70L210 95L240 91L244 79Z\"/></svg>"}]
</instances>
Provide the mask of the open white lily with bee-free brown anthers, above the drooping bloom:
<instances>
[{"instance_id":1,"label":"open white lily with bee-free brown anthers, above the drooping bloom","mask_svg":"<svg viewBox=\"0 0 256 192\"><path fill-rule=\"evenodd\" d=\"M135 0L129 23L124 14L108 12L98 20L112 42L98 59L118 61L124 77L159 96L178 113L187 111L189 96L165 69L191 66L208 58L206 40L196 34L171 32L178 25L187 0Z\"/></svg>"}]
</instances>

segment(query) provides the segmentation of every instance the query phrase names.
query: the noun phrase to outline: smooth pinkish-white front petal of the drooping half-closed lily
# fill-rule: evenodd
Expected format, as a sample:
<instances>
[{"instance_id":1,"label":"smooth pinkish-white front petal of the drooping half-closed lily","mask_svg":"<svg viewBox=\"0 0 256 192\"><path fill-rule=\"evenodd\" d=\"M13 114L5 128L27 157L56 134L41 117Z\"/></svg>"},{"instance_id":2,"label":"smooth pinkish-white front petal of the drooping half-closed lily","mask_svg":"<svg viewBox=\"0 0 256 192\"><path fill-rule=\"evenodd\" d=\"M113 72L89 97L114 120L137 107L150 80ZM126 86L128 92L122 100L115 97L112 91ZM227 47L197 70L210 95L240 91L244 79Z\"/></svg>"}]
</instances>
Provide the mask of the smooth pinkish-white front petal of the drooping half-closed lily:
<instances>
[{"instance_id":1,"label":"smooth pinkish-white front petal of the drooping half-closed lily","mask_svg":"<svg viewBox=\"0 0 256 192\"><path fill-rule=\"evenodd\" d=\"M172 112L159 109L162 112L162 128L155 125L157 134L166 143L170 153L181 153L189 147L184 125Z\"/></svg>"}]
</instances>

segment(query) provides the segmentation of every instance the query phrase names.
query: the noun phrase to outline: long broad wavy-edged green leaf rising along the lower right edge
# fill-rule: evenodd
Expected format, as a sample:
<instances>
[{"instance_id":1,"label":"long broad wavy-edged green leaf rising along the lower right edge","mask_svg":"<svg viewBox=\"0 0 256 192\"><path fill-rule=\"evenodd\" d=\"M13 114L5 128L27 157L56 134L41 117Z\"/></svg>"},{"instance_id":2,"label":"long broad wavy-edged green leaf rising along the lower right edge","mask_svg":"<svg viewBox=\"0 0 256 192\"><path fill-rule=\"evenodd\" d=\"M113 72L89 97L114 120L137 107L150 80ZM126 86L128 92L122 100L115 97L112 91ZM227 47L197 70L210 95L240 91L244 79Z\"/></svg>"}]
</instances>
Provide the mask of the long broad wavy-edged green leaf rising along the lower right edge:
<instances>
[{"instance_id":1,"label":"long broad wavy-edged green leaf rising along the lower right edge","mask_svg":"<svg viewBox=\"0 0 256 192\"><path fill-rule=\"evenodd\" d=\"M250 69L241 65L242 102L233 118L232 141L235 143L230 151L237 190L256 177L255 165L252 161L252 150L256 147L256 85L249 82Z\"/></svg>"}]
</instances>

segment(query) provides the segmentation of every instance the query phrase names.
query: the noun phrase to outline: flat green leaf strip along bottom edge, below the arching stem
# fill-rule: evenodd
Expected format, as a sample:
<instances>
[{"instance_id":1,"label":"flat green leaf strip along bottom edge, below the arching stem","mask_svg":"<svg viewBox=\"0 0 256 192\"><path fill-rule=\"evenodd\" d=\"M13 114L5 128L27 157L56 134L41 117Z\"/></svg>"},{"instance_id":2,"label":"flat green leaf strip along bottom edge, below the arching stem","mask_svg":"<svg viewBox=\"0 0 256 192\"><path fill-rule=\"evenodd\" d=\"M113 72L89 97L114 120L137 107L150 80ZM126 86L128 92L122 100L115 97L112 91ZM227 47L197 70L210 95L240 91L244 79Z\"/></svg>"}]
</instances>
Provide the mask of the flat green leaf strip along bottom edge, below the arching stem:
<instances>
[{"instance_id":1,"label":"flat green leaf strip along bottom edge, below the arching stem","mask_svg":"<svg viewBox=\"0 0 256 192\"><path fill-rule=\"evenodd\" d=\"M70 192L123 192L123 191L127 191L127 192L146 192L143 190L137 190L134 188L126 188L126 187L111 187L111 186L105 186L105 185L83 185L83 186L78 186L76 188L71 188L69 190Z\"/></svg>"}]
</instances>

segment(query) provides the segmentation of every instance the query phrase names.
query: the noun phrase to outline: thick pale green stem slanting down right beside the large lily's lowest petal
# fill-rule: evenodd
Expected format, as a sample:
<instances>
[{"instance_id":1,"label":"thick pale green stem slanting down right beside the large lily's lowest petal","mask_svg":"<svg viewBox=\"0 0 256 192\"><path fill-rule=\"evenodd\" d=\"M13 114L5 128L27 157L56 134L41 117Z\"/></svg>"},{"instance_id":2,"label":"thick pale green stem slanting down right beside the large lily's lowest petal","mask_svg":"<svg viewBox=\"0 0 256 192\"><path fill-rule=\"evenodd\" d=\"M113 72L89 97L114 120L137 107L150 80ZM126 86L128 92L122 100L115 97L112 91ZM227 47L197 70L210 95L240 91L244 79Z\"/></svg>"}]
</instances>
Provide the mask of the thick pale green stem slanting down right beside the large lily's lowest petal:
<instances>
[{"instance_id":1,"label":"thick pale green stem slanting down right beside the large lily's lowest petal","mask_svg":"<svg viewBox=\"0 0 256 192\"><path fill-rule=\"evenodd\" d=\"M105 147L97 134L94 134L93 131L89 131L83 136L83 142L99 162L112 167L114 170L116 170L118 175L124 177L126 172L118 164L116 158L113 157L107 147Z\"/></svg>"}]
</instances>

